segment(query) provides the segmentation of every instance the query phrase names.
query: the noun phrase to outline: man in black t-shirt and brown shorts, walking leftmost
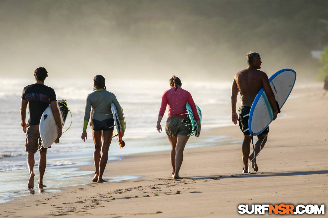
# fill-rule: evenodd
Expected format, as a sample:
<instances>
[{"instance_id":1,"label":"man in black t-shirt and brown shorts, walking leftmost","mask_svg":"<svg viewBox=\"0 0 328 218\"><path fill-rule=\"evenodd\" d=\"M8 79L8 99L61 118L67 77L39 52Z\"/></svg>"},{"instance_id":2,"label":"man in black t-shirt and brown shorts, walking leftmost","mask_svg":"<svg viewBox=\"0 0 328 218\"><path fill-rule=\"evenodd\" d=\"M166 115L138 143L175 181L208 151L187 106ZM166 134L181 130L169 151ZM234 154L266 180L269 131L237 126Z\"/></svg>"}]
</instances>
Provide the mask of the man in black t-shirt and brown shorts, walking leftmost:
<instances>
[{"instance_id":1,"label":"man in black t-shirt and brown shorts, walking leftmost","mask_svg":"<svg viewBox=\"0 0 328 218\"><path fill-rule=\"evenodd\" d=\"M60 115L57 108L55 91L44 85L44 80L48 76L48 72L44 67L39 67L34 71L35 83L25 86L22 93L21 110L20 115L22 119L23 132L26 133L25 148L27 152L27 166L30 171L30 179L28 188L34 188L34 154L39 150L39 189L46 187L43 184L43 174L47 165L47 149L42 146L40 139L39 123L40 118L46 108L51 107L53 117L58 127L58 138L62 134L62 126L60 121ZM29 106L29 121L26 124L26 108Z\"/></svg>"}]
</instances>

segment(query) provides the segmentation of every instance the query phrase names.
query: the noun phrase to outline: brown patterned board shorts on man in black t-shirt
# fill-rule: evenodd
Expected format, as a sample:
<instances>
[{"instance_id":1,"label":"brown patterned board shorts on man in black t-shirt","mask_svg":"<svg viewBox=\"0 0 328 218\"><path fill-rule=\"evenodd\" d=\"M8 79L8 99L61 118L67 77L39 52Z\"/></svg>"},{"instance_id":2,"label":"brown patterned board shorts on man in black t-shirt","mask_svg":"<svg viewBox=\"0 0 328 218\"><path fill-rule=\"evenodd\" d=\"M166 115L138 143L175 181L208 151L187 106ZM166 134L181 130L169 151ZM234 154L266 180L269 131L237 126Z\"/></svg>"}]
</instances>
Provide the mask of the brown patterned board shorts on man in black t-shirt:
<instances>
[{"instance_id":1,"label":"brown patterned board shorts on man in black t-shirt","mask_svg":"<svg viewBox=\"0 0 328 218\"><path fill-rule=\"evenodd\" d=\"M48 147L48 148L51 148ZM25 151L27 152L37 152L39 151L47 151L48 148L43 147L39 125L32 125L26 127L26 142L25 142Z\"/></svg>"}]
</instances>

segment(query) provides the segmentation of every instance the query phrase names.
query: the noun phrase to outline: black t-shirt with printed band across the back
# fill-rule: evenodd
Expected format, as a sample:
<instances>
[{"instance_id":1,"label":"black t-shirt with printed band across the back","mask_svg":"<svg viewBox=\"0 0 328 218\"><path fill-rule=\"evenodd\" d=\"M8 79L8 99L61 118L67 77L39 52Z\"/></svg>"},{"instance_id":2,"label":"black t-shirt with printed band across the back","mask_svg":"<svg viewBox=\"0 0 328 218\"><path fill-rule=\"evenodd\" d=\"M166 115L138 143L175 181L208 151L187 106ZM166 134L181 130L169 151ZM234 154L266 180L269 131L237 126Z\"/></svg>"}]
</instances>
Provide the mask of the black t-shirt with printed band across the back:
<instances>
[{"instance_id":1,"label":"black t-shirt with printed band across the back","mask_svg":"<svg viewBox=\"0 0 328 218\"><path fill-rule=\"evenodd\" d=\"M41 116L51 101L56 100L55 91L43 84L25 86L22 99L28 101L29 121L28 125L39 125Z\"/></svg>"}]
</instances>

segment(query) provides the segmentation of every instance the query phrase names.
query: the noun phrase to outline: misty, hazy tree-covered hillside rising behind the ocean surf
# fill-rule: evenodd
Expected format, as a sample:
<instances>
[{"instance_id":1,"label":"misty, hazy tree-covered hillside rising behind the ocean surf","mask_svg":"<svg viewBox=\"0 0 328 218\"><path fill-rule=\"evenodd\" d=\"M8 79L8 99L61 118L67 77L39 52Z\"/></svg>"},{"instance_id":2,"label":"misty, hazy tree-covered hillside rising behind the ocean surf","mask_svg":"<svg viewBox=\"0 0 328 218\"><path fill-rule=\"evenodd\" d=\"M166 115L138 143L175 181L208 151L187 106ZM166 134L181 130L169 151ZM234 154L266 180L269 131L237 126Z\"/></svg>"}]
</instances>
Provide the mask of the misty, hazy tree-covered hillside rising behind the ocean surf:
<instances>
[{"instance_id":1,"label":"misty, hazy tree-covered hillside rising behind the ocean surf","mask_svg":"<svg viewBox=\"0 0 328 218\"><path fill-rule=\"evenodd\" d=\"M268 74L315 75L311 50L328 45L327 9L324 0L1 0L0 47L19 70L231 78L252 50Z\"/></svg>"}]
</instances>

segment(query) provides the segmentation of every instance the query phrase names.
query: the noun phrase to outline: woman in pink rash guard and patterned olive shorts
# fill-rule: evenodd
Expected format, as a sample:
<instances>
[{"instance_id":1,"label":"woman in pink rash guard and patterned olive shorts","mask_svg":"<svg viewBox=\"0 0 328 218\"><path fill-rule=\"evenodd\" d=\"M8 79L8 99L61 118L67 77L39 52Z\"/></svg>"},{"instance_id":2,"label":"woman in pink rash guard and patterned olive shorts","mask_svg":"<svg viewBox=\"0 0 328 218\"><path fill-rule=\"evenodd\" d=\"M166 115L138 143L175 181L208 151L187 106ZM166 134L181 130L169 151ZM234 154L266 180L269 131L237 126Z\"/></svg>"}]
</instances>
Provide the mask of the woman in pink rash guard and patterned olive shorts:
<instances>
[{"instance_id":1,"label":"woman in pink rash guard and patterned olive shorts","mask_svg":"<svg viewBox=\"0 0 328 218\"><path fill-rule=\"evenodd\" d=\"M175 75L170 79L169 90L166 90L162 97L162 104L158 114L157 131L162 131L161 120L163 118L166 105L169 105L169 114L166 120L165 131L167 137L171 143L171 165L172 165L172 177L174 179L182 179L179 176L179 170L183 160L183 150L190 137L191 129L189 126L185 126L187 119L186 103L188 102L193 110L195 120L198 125L198 135L200 134L200 122L199 116L196 110L196 105L191 97L190 93L181 88L181 81Z\"/></svg>"}]
</instances>

